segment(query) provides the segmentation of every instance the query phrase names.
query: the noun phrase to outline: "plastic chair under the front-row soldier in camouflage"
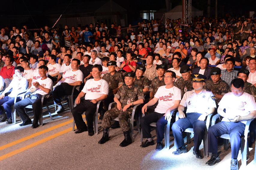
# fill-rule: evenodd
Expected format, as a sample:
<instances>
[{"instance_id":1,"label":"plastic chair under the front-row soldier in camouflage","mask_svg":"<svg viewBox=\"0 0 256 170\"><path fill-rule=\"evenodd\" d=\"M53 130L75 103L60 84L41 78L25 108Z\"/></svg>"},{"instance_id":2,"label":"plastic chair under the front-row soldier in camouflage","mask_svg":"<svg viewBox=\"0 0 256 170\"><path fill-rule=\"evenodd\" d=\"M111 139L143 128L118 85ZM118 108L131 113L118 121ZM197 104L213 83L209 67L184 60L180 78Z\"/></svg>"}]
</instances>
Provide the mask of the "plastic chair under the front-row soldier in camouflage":
<instances>
[{"instance_id":1,"label":"plastic chair under the front-row soldier in camouflage","mask_svg":"<svg viewBox=\"0 0 256 170\"><path fill-rule=\"evenodd\" d=\"M116 103L116 102L112 102L112 103L109 104L108 110L113 108L113 106L114 106L113 104L114 103ZM134 120L135 110L137 109L138 106L140 106L140 104L137 104L137 105L133 106L132 113L131 113L131 118L128 118L128 123L129 123L130 129L131 129L130 136L131 136L132 142L134 141L134 137L133 137L133 123L134 123L134 121L136 121L137 129L138 129L138 132L140 134L139 121L138 121L138 119ZM114 120L115 121L119 121L118 117L115 118Z\"/></svg>"}]
</instances>

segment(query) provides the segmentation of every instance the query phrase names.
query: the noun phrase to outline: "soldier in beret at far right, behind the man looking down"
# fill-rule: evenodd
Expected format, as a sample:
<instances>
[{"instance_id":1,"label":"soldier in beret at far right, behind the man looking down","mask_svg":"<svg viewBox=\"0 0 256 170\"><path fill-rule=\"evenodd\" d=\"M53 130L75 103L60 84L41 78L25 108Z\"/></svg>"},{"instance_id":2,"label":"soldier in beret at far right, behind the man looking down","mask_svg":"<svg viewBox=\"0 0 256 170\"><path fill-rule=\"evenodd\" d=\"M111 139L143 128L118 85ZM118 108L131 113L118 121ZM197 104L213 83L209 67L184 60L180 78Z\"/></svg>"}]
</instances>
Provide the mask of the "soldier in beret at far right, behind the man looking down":
<instances>
[{"instance_id":1,"label":"soldier in beret at far right, behind the man looking down","mask_svg":"<svg viewBox=\"0 0 256 170\"><path fill-rule=\"evenodd\" d=\"M256 101L256 88L253 84L247 82L249 74L250 72L248 70L240 70L237 73L237 78L243 79L243 81L245 82L244 92L251 94Z\"/></svg>"}]
</instances>

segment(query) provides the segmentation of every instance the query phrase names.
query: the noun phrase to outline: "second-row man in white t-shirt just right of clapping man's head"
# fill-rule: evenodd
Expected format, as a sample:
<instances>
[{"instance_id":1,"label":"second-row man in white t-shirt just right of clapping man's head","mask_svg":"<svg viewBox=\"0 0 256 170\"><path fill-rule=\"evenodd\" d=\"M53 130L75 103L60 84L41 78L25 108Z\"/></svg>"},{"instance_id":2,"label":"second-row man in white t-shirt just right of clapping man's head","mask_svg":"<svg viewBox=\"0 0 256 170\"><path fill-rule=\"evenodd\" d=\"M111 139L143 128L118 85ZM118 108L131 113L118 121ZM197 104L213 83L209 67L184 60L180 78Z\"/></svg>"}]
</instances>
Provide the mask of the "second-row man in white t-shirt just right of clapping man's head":
<instances>
[{"instance_id":1,"label":"second-row man in white t-shirt just right of clapping man's head","mask_svg":"<svg viewBox=\"0 0 256 170\"><path fill-rule=\"evenodd\" d=\"M51 54L49 57L49 62L48 62L48 77L53 80L53 82L56 82L57 77L59 75L59 71L61 69L61 65L56 63L56 55Z\"/></svg>"}]
</instances>

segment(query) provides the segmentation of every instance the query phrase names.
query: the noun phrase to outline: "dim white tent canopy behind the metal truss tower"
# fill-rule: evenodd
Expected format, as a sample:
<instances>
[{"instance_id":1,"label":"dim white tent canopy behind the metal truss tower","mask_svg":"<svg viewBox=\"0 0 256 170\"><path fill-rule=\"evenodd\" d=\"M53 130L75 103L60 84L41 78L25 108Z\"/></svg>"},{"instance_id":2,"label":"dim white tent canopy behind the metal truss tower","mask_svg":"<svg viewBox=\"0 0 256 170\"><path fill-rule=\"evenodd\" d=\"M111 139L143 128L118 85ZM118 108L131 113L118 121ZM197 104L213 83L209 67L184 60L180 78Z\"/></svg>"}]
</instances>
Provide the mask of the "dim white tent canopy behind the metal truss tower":
<instances>
[{"instance_id":1,"label":"dim white tent canopy behind the metal truss tower","mask_svg":"<svg viewBox=\"0 0 256 170\"><path fill-rule=\"evenodd\" d=\"M203 11L196 9L195 7L193 7L191 5L191 16L195 17L195 16L199 16L199 15L202 16ZM182 5L178 5L178 6L174 7L172 10L166 12L165 13L165 20L167 18L170 18L170 19L182 18Z\"/></svg>"}]
</instances>

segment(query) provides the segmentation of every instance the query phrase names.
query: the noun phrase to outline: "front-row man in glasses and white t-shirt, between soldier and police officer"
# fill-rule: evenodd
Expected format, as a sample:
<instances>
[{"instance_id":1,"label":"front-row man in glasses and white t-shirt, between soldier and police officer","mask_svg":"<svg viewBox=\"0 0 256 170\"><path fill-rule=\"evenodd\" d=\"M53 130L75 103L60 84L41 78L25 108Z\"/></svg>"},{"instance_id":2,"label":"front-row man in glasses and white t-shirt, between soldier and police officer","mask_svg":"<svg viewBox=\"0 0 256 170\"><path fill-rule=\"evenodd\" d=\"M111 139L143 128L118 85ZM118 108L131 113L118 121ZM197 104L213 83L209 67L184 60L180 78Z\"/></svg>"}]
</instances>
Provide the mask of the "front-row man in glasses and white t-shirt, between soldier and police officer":
<instances>
[{"instance_id":1,"label":"front-row man in glasses and white t-shirt, between soldier and police officer","mask_svg":"<svg viewBox=\"0 0 256 170\"><path fill-rule=\"evenodd\" d=\"M164 127L168 120L171 119L171 111L178 108L181 100L180 89L173 85L175 79L176 74L173 71L167 70L164 75L165 85L159 87L154 98L142 107L142 113L144 114L147 111L148 106L153 106L158 102L155 111L145 115L140 120L143 138L146 138L146 141L140 145L142 148L154 145L150 133L150 124L156 122L157 145L155 149L157 151L163 149L162 140L164 138Z\"/></svg>"}]
</instances>

